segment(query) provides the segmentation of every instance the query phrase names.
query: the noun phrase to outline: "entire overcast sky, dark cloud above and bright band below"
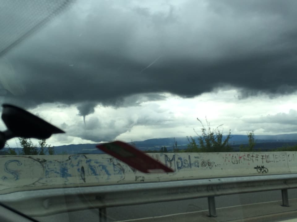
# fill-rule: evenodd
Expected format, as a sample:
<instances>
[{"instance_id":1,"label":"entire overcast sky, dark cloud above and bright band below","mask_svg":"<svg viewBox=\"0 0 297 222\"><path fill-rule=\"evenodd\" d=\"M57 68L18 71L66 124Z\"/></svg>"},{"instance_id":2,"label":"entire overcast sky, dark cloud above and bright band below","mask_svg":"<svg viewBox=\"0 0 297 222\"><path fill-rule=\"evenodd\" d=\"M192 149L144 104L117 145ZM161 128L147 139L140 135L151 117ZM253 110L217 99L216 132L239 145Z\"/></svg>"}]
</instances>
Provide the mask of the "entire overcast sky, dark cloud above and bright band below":
<instances>
[{"instance_id":1,"label":"entire overcast sky, dark cloud above and bright band below","mask_svg":"<svg viewBox=\"0 0 297 222\"><path fill-rule=\"evenodd\" d=\"M0 50L46 11L18 7ZM205 116L296 133L296 21L295 0L75 1L0 58L1 103L65 130L52 145L189 136Z\"/></svg>"}]
</instances>

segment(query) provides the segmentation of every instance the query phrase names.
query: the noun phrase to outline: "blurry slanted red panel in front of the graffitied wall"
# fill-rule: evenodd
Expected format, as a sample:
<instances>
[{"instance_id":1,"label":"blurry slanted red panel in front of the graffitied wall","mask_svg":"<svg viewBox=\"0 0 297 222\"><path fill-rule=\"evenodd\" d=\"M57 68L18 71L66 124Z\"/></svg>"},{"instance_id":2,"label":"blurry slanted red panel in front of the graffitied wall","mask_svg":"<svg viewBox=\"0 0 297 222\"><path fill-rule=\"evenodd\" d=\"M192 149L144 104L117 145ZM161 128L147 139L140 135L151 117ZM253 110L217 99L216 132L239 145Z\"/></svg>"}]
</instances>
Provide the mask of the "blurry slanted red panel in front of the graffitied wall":
<instances>
[{"instance_id":1,"label":"blurry slanted red panel in front of the graffitied wall","mask_svg":"<svg viewBox=\"0 0 297 222\"><path fill-rule=\"evenodd\" d=\"M139 149L121 141L105 143L96 147L144 173L174 172Z\"/></svg>"}]
</instances>

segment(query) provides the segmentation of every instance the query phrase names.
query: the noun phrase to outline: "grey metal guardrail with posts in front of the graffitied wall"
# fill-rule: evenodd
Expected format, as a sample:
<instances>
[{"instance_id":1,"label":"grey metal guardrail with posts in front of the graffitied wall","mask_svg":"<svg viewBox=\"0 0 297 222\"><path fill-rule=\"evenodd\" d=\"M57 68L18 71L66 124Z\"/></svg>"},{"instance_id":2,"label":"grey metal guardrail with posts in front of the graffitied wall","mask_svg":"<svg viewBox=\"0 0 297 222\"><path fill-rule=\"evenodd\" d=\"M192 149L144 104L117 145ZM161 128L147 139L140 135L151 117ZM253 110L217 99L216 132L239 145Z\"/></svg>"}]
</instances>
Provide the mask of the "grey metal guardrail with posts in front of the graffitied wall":
<instances>
[{"instance_id":1,"label":"grey metal guardrail with posts in front of the graffitied wall","mask_svg":"<svg viewBox=\"0 0 297 222\"><path fill-rule=\"evenodd\" d=\"M0 202L30 216L207 197L209 216L217 216L215 196L281 190L282 205L289 206L287 189L297 188L297 174L211 178L109 186L22 191L0 195Z\"/></svg>"}]
</instances>

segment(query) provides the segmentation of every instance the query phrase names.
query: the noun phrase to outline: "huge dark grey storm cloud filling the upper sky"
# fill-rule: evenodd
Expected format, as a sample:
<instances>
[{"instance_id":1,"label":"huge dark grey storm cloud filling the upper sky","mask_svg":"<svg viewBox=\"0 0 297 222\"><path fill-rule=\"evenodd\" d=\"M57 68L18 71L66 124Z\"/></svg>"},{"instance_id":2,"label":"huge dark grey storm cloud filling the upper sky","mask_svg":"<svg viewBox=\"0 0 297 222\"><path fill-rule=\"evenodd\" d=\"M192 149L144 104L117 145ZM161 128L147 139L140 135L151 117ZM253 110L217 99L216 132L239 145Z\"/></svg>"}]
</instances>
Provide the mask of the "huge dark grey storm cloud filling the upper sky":
<instances>
[{"instance_id":1,"label":"huge dark grey storm cloud filling the upper sky","mask_svg":"<svg viewBox=\"0 0 297 222\"><path fill-rule=\"evenodd\" d=\"M24 89L11 92L14 103L79 103L83 116L97 103L135 105L161 92L288 94L297 89L296 20L296 1L188 1L162 10L80 1L7 55L18 83L0 81Z\"/></svg>"}]
</instances>

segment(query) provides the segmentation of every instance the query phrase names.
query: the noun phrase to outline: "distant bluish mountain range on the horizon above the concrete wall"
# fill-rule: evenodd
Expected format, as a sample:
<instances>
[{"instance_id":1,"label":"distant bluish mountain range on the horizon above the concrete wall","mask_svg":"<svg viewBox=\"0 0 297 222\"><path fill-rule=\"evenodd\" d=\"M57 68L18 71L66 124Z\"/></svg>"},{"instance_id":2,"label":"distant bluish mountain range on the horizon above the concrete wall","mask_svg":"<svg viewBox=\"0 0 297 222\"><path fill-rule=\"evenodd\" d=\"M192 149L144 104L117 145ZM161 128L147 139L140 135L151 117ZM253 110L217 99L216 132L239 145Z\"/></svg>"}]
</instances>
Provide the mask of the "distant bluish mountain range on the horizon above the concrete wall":
<instances>
[{"instance_id":1,"label":"distant bluish mountain range on the horizon above the concrete wall","mask_svg":"<svg viewBox=\"0 0 297 222\"><path fill-rule=\"evenodd\" d=\"M193 136L197 139L197 136ZM225 136L226 138L226 136ZM297 145L297 133L294 134L279 134L279 135L255 135L256 146L255 148L261 148L261 150L275 149L282 147L283 145ZM186 137L169 137L169 138L154 138L144 141L134 141L133 143L138 149L143 151L146 150L160 150L162 146L166 146L167 150L174 149L174 141L177 142L179 149L185 149L189 141ZM239 145L248 144L247 135L232 135L230 139L230 144L232 145L234 151L238 151ZM97 149L95 146L97 144L71 144L62 145L55 147L55 154L101 154L101 150ZM5 151L4 148L2 151ZM16 152L21 150L20 148L15 148Z\"/></svg>"}]
</instances>

